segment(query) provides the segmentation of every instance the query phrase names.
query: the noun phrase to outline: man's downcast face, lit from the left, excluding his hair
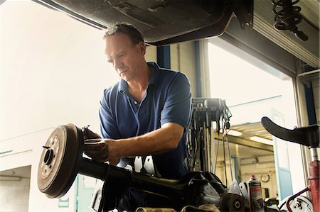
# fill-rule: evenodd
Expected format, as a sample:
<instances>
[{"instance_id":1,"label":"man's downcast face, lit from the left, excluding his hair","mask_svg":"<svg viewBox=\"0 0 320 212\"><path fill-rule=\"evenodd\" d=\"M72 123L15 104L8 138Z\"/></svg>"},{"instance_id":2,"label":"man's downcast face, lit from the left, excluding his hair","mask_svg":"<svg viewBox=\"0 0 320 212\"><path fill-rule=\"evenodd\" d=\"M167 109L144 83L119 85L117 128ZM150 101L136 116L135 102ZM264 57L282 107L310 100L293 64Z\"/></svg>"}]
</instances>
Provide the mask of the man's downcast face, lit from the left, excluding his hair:
<instances>
[{"instance_id":1,"label":"man's downcast face, lit from the left, excluding his hair","mask_svg":"<svg viewBox=\"0 0 320 212\"><path fill-rule=\"evenodd\" d=\"M127 82L139 77L142 65L145 65L145 45L133 44L129 36L117 33L106 38L106 55L119 76Z\"/></svg>"}]
</instances>

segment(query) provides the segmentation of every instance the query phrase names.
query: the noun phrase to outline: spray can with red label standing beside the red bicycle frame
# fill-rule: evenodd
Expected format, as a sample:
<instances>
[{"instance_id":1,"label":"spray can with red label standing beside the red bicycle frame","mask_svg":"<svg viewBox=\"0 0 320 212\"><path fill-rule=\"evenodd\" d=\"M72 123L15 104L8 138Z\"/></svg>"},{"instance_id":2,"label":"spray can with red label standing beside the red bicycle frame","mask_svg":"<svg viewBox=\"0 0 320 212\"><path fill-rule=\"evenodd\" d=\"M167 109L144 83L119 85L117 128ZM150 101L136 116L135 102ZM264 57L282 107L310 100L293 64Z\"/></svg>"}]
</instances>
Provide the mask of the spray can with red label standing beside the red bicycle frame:
<instances>
[{"instance_id":1,"label":"spray can with red label standing beside the red bicycle frame","mask_svg":"<svg viewBox=\"0 0 320 212\"><path fill-rule=\"evenodd\" d=\"M249 190L250 212L264 212L265 208L263 207L261 183L257 180L255 174L251 175L247 184Z\"/></svg>"}]
</instances>

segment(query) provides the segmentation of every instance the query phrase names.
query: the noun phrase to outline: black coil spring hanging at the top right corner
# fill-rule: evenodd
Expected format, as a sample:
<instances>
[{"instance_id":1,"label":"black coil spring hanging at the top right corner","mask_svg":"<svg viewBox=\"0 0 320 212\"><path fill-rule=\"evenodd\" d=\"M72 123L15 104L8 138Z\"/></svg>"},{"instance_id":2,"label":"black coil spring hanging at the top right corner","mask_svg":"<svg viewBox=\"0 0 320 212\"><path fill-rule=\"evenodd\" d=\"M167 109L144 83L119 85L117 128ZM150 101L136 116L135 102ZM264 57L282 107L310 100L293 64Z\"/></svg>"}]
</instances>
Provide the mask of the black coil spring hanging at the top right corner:
<instances>
[{"instance_id":1,"label":"black coil spring hanging at the top right corner","mask_svg":"<svg viewBox=\"0 0 320 212\"><path fill-rule=\"evenodd\" d=\"M299 14L301 7L294 6L300 0L272 0L272 11L274 12L274 28L277 30L290 30L301 40L308 40L308 36L298 30L297 24L301 23L302 16ZM279 9L281 8L281 9Z\"/></svg>"}]
</instances>

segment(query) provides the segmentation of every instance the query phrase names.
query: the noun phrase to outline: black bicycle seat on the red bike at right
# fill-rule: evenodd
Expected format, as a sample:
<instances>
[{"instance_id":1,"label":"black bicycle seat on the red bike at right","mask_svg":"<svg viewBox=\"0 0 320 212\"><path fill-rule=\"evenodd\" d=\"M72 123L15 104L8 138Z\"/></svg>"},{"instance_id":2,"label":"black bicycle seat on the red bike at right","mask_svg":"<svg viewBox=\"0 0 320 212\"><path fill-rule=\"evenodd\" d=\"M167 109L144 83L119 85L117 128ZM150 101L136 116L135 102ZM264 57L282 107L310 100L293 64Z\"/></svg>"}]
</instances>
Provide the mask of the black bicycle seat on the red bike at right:
<instances>
[{"instance_id":1,"label":"black bicycle seat on the red bike at right","mask_svg":"<svg viewBox=\"0 0 320 212\"><path fill-rule=\"evenodd\" d=\"M318 124L289 130L287 128L282 128L267 117L263 117L261 119L261 123L270 134L274 135L277 138L291 141L293 143L299 143L309 148L319 147Z\"/></svg>"}]
</instances>

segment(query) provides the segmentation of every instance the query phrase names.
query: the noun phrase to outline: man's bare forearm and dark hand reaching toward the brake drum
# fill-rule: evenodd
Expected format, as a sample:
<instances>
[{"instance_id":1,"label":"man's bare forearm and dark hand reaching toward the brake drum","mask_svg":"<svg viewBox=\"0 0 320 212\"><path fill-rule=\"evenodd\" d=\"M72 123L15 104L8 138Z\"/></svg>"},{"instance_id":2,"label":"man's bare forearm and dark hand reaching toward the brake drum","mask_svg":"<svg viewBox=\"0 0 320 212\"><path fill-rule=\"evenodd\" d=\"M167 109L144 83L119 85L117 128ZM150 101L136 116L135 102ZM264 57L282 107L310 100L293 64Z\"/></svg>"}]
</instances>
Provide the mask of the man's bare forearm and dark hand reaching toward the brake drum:
<instances>
[{"instance_id":1,"label":"man's bare forearm and dark hand reaching toward the brake drum","mask_svg":"<svg viewBox=\"0 0 320 212\"><path fill-rule=\"evenodd\" d=\"M111 164L117 164L121 157L157 155L174 150L183 130L177 123L165 123L158 130L134 138L86 140L85 154L97 162Z\"/></svg>"}]
</instances>

